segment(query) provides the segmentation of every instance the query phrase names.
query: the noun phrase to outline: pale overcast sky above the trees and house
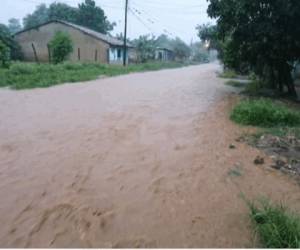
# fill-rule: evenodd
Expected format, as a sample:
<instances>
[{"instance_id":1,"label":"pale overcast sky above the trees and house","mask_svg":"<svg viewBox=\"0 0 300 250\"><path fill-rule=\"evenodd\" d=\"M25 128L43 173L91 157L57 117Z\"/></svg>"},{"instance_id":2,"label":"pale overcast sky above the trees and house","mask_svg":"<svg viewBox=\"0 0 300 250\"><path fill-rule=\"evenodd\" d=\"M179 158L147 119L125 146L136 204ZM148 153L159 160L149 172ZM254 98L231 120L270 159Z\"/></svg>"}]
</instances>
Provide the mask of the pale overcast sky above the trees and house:
<instances>
[{"instance_id":1,"label":"pale overcast sky above the trees and house","mask_svg":"<svg viewBox=\"0 0 300 250\"><path fill-rule=\"evenodd\" d=\"M56 0L77 6L83 0ZM110 21L117 23L113 34L123 32L125 0L95 0L105 10ZM9 18L22 19L34 11L40 3L50 4L55 0L1 0L0 22ZM128 35L136 38L142 34L168 34L186 42L197 41L197 24L213 23L206 14L206 0L129 0Z\"/></svg>"}]
</instances>

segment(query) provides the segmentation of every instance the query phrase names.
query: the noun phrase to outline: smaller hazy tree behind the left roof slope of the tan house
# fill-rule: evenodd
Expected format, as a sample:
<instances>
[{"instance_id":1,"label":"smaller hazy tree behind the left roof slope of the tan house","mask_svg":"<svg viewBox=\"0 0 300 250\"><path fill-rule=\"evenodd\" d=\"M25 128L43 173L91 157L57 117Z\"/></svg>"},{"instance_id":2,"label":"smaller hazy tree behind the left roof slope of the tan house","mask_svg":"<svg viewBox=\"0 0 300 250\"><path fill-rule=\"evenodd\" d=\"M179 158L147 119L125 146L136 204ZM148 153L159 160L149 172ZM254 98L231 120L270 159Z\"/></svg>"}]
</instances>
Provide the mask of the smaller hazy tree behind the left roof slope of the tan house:
<instances>
[{"instance_id":1,"label":"smaller hazy tree behind the left roof slope of the tan house","mask_svg":"<svg viewBox=\"0 0 300 250\"><path fill-rule=\"evenodd\" d=\"M29 29L49 21L49 10L46 4L40 4L32 14L28 14L23 19L23 26Z\"/></svg>"}]
</instances>

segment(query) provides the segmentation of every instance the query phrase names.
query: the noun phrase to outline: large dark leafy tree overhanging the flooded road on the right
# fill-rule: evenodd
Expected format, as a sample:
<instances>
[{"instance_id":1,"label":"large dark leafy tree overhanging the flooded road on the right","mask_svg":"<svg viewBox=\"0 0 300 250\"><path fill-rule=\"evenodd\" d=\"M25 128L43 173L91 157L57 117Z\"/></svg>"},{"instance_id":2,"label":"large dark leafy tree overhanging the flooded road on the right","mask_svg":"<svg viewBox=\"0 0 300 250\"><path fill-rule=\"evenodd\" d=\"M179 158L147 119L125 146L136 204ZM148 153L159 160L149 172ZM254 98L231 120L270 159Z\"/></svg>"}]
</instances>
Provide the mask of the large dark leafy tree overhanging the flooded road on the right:
<instances>
[{"instance_id":1,"label":"large dark leafy tree overhanging the flooded road on the right","mask_svg":"<svg viewBox=\"0 0 300 250\"><path fill-rule=\"evenodd\" d=\"M272 88L297 96L291 76L300 59L300 1L209 0L208 14L217 19L225 51ZM231 62L227 62L229 66ZM236 67L236 66L234 66Z\"/></svg>"}]
</instances>

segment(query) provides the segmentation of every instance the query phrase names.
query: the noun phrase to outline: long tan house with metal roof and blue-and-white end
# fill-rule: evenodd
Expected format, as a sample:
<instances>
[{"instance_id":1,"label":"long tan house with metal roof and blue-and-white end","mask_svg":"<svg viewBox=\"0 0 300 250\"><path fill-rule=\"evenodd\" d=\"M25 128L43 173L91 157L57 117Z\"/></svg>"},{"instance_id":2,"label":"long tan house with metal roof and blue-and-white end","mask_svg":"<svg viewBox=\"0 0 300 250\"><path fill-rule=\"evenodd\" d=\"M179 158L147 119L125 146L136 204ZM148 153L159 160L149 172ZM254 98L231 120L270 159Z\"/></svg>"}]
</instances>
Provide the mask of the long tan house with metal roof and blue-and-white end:
<instances>
[{"instance_id":1,"label":"long tan house with metal roof and blue-and-white end","mask_svg":"<svg viewBox=\"0 0 300 250\"><path fill-rule=\"evenodd\" d=\"M99 62L106 64L123 63L123 41L91 29L65 21L49 21L39 26L15 34L25 61L49 62L49 42L55 33L68 33L73 41L74 50L69 60L72 62ZM127 47L127 58L134 48ZM36 54L36 56L35 56Z\"/></svg>"}]
</instances>

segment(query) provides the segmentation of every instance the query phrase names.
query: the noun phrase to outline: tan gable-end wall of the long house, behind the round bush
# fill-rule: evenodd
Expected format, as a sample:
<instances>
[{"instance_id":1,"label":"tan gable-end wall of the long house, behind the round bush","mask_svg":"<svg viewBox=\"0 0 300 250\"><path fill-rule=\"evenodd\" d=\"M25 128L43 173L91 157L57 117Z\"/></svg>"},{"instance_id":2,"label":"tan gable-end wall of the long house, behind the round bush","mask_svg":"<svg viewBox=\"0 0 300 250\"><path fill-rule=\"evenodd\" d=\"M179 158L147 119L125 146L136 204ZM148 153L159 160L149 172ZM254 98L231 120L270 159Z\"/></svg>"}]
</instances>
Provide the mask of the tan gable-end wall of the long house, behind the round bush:
<instances>
[{"instance_id":1,"label":"tan gable-end wall of the long house, behind the round bush","mask_svg":"<svg viewBox=\"0 0 300 250\"><path fill-rule=\"evenodd\" d=\"M80 61L83 62L97 62L108 63L108 49L109 44L95 39L83 32L69 27L61 23L49 23L37 29L31 29L23 33L17 34L15 39L21 45L26 61L34 61L34 52L32 43L34 44L39 61L48 62L48 48L47 44L52 40L57 31L66 32L70 35L74 51L70 55L70 61L79 61L78 49L80 49ZM96 56L97 50L97 58Z\"/></svg>"}]
</instances>

